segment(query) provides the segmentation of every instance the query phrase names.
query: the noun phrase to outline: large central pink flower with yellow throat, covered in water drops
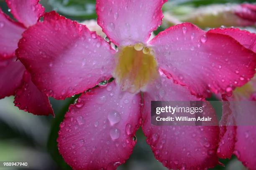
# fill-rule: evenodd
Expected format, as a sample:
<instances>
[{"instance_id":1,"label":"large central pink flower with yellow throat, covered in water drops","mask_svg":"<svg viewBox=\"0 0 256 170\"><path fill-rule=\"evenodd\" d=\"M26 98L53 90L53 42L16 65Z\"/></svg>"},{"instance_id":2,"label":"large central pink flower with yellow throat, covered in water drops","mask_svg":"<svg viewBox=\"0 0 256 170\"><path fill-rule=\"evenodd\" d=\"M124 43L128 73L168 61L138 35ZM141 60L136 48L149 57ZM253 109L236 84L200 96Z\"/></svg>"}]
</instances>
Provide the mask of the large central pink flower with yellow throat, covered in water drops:
<instances>
[{"instance_id":1,"label":"large central pink flower with yellow throat, covered in water drops","mask_svg":"<svg viewBox=\"0 0 256 170\"><path fill-rule=\"evenodd\" d=\"M117 168L131 155L141 125L155 158L167 168L218 164L218 126L151 125L150 101L231 92L255 74L256 54L230 35L190 23L148 41L161 24L164 2L96 0L97 23L118 50L54 11L23 33L16 54L38 89L56 99L82 93L58 138L59 152L73 169Z\"/></svg>"}]
</instances>

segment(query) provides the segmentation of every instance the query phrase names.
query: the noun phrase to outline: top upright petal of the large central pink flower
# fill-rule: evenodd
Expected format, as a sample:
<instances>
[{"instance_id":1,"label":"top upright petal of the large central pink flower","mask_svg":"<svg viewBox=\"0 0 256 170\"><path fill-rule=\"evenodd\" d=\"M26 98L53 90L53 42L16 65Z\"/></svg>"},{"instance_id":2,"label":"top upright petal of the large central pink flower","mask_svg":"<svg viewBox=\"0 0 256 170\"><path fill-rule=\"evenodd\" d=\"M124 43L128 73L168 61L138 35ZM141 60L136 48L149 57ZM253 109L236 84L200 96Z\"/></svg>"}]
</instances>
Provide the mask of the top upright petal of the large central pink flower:
<instances>
[{"instance_id":1,"label":"top upright petal of the large central pink flower","mask_svg":"<svg viewBox=\"0 0 256 170\"><path fill-rule=\"evenodd\" d=\"M115 45L146 43L161 25L167 0L96 0L97 23Z\"/></svg>"}]
</instances>

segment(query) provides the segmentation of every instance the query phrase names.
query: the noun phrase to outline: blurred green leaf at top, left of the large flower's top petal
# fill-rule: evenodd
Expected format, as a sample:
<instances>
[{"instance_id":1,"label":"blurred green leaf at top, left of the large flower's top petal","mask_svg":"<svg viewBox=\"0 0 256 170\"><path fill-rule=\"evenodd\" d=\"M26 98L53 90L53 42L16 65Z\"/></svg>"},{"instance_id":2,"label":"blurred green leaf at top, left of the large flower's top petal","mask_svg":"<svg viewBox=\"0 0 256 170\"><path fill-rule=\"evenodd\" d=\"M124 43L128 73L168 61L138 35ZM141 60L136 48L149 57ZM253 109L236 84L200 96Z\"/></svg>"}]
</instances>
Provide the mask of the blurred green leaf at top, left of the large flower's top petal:
<instances>
[{"instance_id":1,"label":"blurred green leaf at top, left of the large flower's top petal","mask_svg":"<svg viewBox=\"0 0 256 170\"><path fill-rule=\"evenodd\" d=\"M58 13L72 19L86 20L96 18L95 0L49 0Z\"/></svg>"}]
</instances>

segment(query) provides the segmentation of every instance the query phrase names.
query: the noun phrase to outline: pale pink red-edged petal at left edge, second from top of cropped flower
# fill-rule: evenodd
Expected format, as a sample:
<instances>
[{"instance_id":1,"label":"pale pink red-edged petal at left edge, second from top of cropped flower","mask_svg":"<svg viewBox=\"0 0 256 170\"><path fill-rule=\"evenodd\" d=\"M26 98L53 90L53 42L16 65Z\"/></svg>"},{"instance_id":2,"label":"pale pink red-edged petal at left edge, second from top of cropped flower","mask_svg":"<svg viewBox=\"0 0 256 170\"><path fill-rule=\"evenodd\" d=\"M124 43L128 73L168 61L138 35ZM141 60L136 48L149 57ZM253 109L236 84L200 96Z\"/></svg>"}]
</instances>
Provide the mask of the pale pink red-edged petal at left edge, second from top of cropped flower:
<instances>
[{"instance_id":1,"label":"pale pink red-edged petal at left edge, second from top of cropped flower","mask_svg":"<svg viewBox=\"0 0 256 170\"><path fill-rule=\"evenodd\" d=\"M24 30L22 25L15 23L0 9L0 59L14 56Z\"/></svg>"}]
</instances>

